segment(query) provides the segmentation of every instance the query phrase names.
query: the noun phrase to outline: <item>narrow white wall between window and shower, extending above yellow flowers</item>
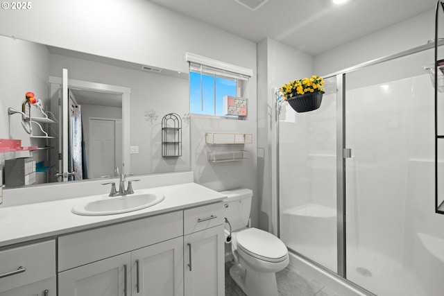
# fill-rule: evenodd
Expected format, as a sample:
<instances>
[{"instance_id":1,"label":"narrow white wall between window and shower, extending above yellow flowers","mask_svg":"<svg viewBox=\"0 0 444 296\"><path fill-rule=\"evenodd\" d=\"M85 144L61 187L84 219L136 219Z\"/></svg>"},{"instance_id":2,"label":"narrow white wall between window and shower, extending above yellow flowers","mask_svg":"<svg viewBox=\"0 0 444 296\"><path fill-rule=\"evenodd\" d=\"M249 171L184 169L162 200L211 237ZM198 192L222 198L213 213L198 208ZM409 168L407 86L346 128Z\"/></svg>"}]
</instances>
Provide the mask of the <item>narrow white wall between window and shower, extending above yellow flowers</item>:
<instances>
[{"instance_id":1,"label":"narrow white wall between window and shower, extending above yellow flowers","mask_svg":"<svg viewBox=\"0 0 444 296\"><path fill-rule=\"evenodd\" d=\"M275 151L275 95L274 89L291 80L313 75L313 58L310 55L266 39L257 45L258 60L258 167L259 226L276 232L277 218L273 216L276 206L275 167L272 158ZM274 182L273 182L274 181Z\"/></svg>"}]
</instances>

